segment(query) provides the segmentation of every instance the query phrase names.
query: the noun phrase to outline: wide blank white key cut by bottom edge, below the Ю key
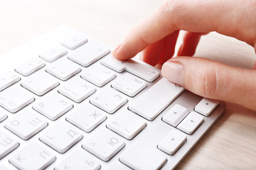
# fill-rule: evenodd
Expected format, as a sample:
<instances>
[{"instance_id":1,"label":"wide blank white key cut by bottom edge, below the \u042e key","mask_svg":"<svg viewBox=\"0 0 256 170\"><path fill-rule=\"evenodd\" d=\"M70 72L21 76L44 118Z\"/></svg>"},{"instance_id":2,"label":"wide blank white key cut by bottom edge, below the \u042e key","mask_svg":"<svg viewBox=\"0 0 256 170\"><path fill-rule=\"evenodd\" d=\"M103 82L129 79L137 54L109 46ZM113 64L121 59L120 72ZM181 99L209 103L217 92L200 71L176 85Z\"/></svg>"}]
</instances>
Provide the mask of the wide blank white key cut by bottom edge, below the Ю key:
<instances>
[{"instance_id":1,"label":"wide blank white key cut by bottom edge, below the \u042e key","mask_svg":"<svg viewBox=\"0 0 256 170\"><path fill-rule=\"evenodd\" d=\"M146 147L142 142L136 142L119 160L132 169L161 169L167 162L166 157L156 147Z\"/></svg>"}]
</instances>

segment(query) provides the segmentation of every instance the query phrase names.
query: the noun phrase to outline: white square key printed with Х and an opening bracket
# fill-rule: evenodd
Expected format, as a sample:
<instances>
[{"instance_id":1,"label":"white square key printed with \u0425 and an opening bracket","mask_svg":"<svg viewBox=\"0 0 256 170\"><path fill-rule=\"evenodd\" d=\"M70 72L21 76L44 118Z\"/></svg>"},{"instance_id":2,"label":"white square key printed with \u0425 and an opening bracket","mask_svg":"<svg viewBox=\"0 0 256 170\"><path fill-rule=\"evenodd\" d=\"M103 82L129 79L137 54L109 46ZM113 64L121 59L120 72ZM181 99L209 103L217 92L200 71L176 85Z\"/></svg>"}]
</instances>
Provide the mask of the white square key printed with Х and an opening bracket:
<instances>
[{"instance_id":1,"label":"white square key printed with \u0425 and an opening bracket","mask_svg":"<svg viewBox=\"0 0 256 170\"><path fill-rule=\"evenodd\" d=\"M66 84L58 89L60 94L63 94L77 103L85 100L85 98L95 93L95 91L95 86L81 79L80 77L70 79Z\"/></svg>"}]
</instances>

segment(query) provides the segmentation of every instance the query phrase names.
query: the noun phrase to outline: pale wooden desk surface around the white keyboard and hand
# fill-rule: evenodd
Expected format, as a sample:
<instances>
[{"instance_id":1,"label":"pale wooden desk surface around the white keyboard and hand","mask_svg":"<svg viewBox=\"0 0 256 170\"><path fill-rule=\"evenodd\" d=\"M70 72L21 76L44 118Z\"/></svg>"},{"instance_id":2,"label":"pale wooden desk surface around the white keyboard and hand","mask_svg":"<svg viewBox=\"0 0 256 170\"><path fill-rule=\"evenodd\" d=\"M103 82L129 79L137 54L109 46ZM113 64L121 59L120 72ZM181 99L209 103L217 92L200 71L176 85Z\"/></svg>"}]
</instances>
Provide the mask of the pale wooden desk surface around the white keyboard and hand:
<instances>
[{"instance_id":1,"label":"pale wooden desk surface around the white keyboard and hand","mask_svg":"<svg viewBox=\"0 0 256 170\"><path fill-rule=\"evenodd\" d=\"M0 54L62 24L114 47L160 3L159 0L1 0ZM252 47L217 33L202 38L196 55L249 69L256 59ZM256 169L256 111L227 103L224 115L177 169Z\"/></svg>"}]
</instances>

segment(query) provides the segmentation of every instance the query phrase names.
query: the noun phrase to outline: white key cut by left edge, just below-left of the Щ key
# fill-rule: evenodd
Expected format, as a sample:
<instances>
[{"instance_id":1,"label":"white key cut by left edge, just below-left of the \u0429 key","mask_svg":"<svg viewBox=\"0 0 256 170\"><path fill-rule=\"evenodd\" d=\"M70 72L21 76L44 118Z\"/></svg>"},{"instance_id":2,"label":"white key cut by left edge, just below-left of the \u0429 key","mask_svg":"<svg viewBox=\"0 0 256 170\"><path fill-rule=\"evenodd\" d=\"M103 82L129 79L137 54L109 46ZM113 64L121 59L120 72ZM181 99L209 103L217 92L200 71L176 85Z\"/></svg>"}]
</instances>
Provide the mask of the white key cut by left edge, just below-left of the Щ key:
<instances>
[{"instance_id":1,"label":"white key cut by left edge, just below-left of the \u0429 key","mask_svg":"<svg viewBox=\"0 0 256 170\"><path fill-rule=\"evenodd\" d=\"M18 147L18 142L0 131L0 159Z\"/></svg>"}]
</instances>

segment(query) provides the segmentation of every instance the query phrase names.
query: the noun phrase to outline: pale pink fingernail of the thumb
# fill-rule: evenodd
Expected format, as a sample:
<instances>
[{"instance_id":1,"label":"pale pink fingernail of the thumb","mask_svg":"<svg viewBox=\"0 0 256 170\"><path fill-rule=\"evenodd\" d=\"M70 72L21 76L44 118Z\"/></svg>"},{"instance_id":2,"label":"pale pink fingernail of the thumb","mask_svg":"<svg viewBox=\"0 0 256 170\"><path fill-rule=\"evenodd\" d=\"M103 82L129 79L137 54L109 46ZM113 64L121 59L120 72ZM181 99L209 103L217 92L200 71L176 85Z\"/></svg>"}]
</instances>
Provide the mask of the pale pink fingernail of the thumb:
<instances>
[{"instance_id":1,"label":"pale pink fingernail of the thumb","mask_svg":"<svg viewBox=\"0 0 256 170\"><path fill-rule=\"evenodd\" d=\"M169 81L184 86L184 67L178 62L165 62L162 67L162 75Z\"/></svg>"}]
</instances>

